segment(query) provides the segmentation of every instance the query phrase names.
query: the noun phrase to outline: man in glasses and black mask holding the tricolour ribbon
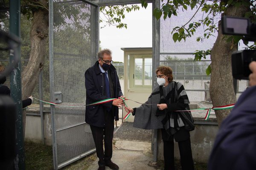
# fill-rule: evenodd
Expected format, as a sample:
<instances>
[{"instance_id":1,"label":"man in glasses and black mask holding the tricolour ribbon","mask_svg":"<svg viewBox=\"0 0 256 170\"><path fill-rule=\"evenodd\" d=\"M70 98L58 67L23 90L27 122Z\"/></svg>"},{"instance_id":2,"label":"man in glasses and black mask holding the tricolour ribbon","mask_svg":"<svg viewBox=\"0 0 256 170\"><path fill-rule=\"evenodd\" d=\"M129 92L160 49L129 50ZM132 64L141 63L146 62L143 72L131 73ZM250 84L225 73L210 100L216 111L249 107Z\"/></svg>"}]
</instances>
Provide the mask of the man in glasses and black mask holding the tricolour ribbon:
<instances>
[{"instance_id":1,"label":"man in glasses and black mask holding the tricolour ribbon","mask_svg":"<svg viewBox=\"0 0 256 170\"><path fill-rule=\"evenodd\" d=\"M111 102L100 105L86 106L85 122L90 125L93 139L96 146L96 153L99 158L99 169L105 170L105 166L112 170L119 167L111 161L112 140L114 131L114 118L119 120L118 107L124 105L124 97L121 91L116 68L112 65L112 56L109 49L104 49L98 53L99 60L91 68L85 71L86 105L103 99L116 98ZM103 150L103 139L105 151Z\"/></svg>"}]
</instances>

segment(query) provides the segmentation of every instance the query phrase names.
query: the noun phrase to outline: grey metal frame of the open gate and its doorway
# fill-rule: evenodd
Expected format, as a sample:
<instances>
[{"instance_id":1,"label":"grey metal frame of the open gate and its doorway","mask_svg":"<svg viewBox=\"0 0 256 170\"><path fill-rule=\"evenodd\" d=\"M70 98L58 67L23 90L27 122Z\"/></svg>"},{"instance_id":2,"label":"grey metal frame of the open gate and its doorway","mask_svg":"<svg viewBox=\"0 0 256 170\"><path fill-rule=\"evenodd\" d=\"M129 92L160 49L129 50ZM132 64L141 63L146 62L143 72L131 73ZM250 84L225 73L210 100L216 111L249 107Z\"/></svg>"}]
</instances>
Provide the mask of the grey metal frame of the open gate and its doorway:
<instances>
[{"instance_id":1,"label":"grey metal frame of the open gate and its doorway","mask_svg":"<svg viewBox=\"0 0 256 170\"><path fill-rule=\"evenodd\" d=\"M140 4L140 0L81 0L84 3L96 7L96 54L99 51L99 7L100 6L117 6L117 5L130 5ZM160 8L160 0L147 0L147 3L152 3L152 12L154 8ZM54 64L53 64L53 0L49 0L49 77L50 77L50 92L51 102L54 102ZM158 67L160 59L160 20L157 20L152 16L152 72ZM95 56L97 59L97 56ZM156 79L152 79L152 90L156 87ZM56 130L55 130L55 107L51 105L51 121L52 121L52 152L53 152L53 164L54 170L66 166L82 157L95 152L96 149L91 150L90 153L84 154L83 156L77 156L68 162L60 164L58 166L57 159L57 144L56 144ZM157 130L152 130L151 149L154 150L153 161L157 161Z\"/></svg>"}]
</instances>

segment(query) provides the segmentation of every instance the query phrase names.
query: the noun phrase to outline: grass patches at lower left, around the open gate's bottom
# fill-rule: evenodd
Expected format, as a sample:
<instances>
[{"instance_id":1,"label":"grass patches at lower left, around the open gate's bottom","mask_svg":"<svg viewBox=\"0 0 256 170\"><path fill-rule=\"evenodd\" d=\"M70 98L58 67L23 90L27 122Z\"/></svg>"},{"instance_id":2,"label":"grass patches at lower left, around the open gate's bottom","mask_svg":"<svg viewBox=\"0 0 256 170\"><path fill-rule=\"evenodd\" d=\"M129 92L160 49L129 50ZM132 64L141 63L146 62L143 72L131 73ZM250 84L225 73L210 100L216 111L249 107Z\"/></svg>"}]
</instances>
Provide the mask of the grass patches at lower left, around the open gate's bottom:
<instances>
[{"instance_id":1,"label":"grass patches at lower left, around the open gate's bottom","mask_svg":"<svg viewBox=\"0 0 256 170\"><path fill-rule=\"evenodd\" d=\"M26 170L53 170L52 146L25 141L24 148ZM96 159L96 153L94 153L61 168L61 170L87 170Z\"/></svg>"}]
</instances>

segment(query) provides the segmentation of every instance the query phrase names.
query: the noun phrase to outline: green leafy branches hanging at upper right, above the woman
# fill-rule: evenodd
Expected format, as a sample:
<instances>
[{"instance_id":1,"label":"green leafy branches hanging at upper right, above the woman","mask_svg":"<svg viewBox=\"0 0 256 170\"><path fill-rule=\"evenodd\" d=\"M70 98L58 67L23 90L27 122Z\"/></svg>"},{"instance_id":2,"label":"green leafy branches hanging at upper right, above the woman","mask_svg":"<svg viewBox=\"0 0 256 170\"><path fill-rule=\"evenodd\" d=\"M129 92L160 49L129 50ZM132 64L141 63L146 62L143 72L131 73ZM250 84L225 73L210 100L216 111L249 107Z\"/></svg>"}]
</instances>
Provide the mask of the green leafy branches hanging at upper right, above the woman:
<instances>
[{"instance_id":1,"label":"green leafy branches hanging at upper right, above the woman","mask_svg":"<svg viewBox=\"0 0 256 170\"><path fill-rule=\"evenodd\" d=\"M186 23L182 23L180 26L176 26L172 30L172 39L174 42L184 40L192 37L197 29L202 26L204 32L200 37L196 38L196 41L204 41L213 36L213 33L218 31L218 21L214 20L216 15L225 14L227 8L230 6L250 6L250 11L244 14L244 17L250 18L252 23L256 22L256 3L255 0L167 0L163 1L160 8L155 8L153 11L154 17L159 20L162 16L163 19L171 18L172 16L179 15L180 12L186 12L188 9L196 9L194 15ZM141 4L146 8L147 3L145 0L141 0ZM204 17L201 20L193 20L198 11L204 12ZM241 42L247 49L256 49L256 43L249 44L243 36L225 36L227 42L232 42L234 45ZM201 61L202 58L206 59L206 56L211 54L211 49L207 51L195 51L195 60ZM207 75L210 74L210 66L207 69Z\"/></svg>"}]
</instances>

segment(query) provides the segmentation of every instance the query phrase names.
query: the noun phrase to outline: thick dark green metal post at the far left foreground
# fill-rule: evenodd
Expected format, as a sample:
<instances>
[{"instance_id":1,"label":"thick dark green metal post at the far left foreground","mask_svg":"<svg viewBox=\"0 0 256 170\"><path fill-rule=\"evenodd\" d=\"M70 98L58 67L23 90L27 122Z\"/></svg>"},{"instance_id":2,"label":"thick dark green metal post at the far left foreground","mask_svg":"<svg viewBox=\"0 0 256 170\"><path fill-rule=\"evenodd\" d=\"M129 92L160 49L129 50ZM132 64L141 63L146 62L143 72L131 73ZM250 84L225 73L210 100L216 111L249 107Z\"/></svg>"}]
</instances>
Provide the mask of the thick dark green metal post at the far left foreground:
<instances>
[{"instance_id":1,"label":"thick dark green metal post at the far left foreground","mask_svg":"<svg viewBox=\"0 0 256 170\"><path fill-rule=\"evenodd\" d=\"M16 35L20 39L20 0L10 0L10 34ZM17 46L17 57L20 60L20 44ZM10 53L10 63L13 62L13 51ZM17 142L16 158L14 160L15 169L25 169L24 136L23 136L23 115L22 115L22 94L21 94L21 63L13 69L10 74L11 97L17 107Z\"/></svg>"}]
</instances>

